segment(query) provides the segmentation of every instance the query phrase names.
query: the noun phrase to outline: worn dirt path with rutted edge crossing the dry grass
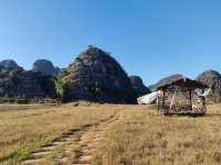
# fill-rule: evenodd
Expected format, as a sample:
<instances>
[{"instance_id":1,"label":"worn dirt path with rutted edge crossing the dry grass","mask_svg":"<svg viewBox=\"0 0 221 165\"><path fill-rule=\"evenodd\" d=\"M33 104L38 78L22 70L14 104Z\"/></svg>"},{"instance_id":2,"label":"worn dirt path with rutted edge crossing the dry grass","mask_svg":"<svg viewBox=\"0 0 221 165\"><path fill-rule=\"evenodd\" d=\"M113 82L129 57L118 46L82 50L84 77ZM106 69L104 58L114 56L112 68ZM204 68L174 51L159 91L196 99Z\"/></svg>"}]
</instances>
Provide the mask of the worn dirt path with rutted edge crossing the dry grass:
<instances>
[{"instance_id":1,"label":"worn dirt path with rutted edge crossing the dry grass","mask_svg":"<svg viewBox=\"0 0 221 165\"><path fill-rule=\"evenodd\" d=\"M53 155L53 162L56 165L91 165L93 153L98 150L106 131L120 119L119 111L99 123L71 130L51 145L32 153L31 158L23 161L23 164L43 164Z\"/></svg>"}]
</instances>

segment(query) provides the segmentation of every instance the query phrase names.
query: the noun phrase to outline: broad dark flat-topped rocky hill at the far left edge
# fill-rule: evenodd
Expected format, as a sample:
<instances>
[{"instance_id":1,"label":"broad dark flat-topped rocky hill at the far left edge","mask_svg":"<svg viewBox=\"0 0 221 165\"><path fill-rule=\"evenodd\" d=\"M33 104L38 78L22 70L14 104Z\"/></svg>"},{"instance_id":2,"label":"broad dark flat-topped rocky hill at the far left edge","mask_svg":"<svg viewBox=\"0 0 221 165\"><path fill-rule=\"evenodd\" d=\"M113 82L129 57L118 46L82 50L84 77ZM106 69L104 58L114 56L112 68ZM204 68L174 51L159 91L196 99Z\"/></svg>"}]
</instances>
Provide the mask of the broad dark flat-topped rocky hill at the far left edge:
<instances>
[{"instance_id":1,"label":"broad dark flat-topped rocky hill at the far left edge","mask_svg":"<svg viewBox=\"0 0 221 165\"><path fill-rule=\"evenodd\" d=\"M1 98L55 98L54 80L41 73L25 72L21 68L0 67Z\"/></svg>"}]
</instances>

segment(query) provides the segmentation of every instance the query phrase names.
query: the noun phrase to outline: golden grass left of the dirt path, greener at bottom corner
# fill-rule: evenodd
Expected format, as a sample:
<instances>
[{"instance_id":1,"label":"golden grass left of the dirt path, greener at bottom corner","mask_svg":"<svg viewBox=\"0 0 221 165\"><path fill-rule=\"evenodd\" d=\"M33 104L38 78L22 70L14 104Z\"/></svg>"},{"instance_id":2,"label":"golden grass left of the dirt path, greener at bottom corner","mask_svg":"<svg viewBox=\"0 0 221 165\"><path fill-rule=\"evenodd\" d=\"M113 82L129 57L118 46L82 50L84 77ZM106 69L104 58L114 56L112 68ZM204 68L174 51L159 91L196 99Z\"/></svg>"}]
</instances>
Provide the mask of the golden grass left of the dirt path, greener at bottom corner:
<instances>
[{"instance_id":1,"label":"golden grass left of the dirt path, greener at bottom corner","mask_svg":"<svg viewBox=\"0 0 221 165\"><path fill-rule=\"evenodd\" d=\"M107 119L115 111L115 107L105 105L0 106L0 164L20 164L63 132Z\"/></svg>"}]
</instances>

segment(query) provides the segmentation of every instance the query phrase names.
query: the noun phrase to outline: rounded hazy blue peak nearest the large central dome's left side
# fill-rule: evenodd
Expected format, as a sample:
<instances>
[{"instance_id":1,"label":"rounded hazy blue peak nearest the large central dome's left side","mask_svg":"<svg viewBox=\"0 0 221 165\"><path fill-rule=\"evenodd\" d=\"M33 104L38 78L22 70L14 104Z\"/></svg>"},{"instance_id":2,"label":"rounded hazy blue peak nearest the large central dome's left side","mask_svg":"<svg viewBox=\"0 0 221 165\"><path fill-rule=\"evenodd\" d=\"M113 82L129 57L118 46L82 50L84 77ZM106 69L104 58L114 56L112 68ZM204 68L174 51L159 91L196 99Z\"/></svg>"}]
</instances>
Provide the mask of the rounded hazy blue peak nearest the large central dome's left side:
<instances>
[{"instance_id":1,"label":"rounded hazy blue peak nearest the large central dome's left side","mask_svg":"<svg viewBox=\"0 0 221 165\"><path fill-rule=\"evenodd\" d=\"M48 59L38 59L32 66L33 72L41 72L44 75L56 77L61 70L59 67L55 67L52 62Z\"/></svg>"}]
</instances>

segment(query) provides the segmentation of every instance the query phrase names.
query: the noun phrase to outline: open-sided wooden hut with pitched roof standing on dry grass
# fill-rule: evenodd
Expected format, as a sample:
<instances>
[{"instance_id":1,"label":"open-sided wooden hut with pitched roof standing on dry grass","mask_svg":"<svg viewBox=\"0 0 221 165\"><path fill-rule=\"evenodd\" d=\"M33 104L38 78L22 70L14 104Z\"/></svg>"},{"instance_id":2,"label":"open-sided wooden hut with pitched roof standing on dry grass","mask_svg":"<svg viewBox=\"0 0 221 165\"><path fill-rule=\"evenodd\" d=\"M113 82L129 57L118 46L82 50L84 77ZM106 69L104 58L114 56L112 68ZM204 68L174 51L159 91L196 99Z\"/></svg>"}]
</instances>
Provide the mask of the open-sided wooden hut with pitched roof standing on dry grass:
<instances>
[{"instance_id":1,"label":"open-sided wooden hut with pitched roof standing on dry grass","mask_svg":"<svg viewBox=\"0 0 221 165\"><path fill-rule=\"evenodd\" d=\"M187 78L182 75L170 77L158 84L156 91L162 91L158 96L157 107L160 114L204 114L206 99L196 95L196 89L204 90L207 85Z\"/></svg>"}]
</instances>

